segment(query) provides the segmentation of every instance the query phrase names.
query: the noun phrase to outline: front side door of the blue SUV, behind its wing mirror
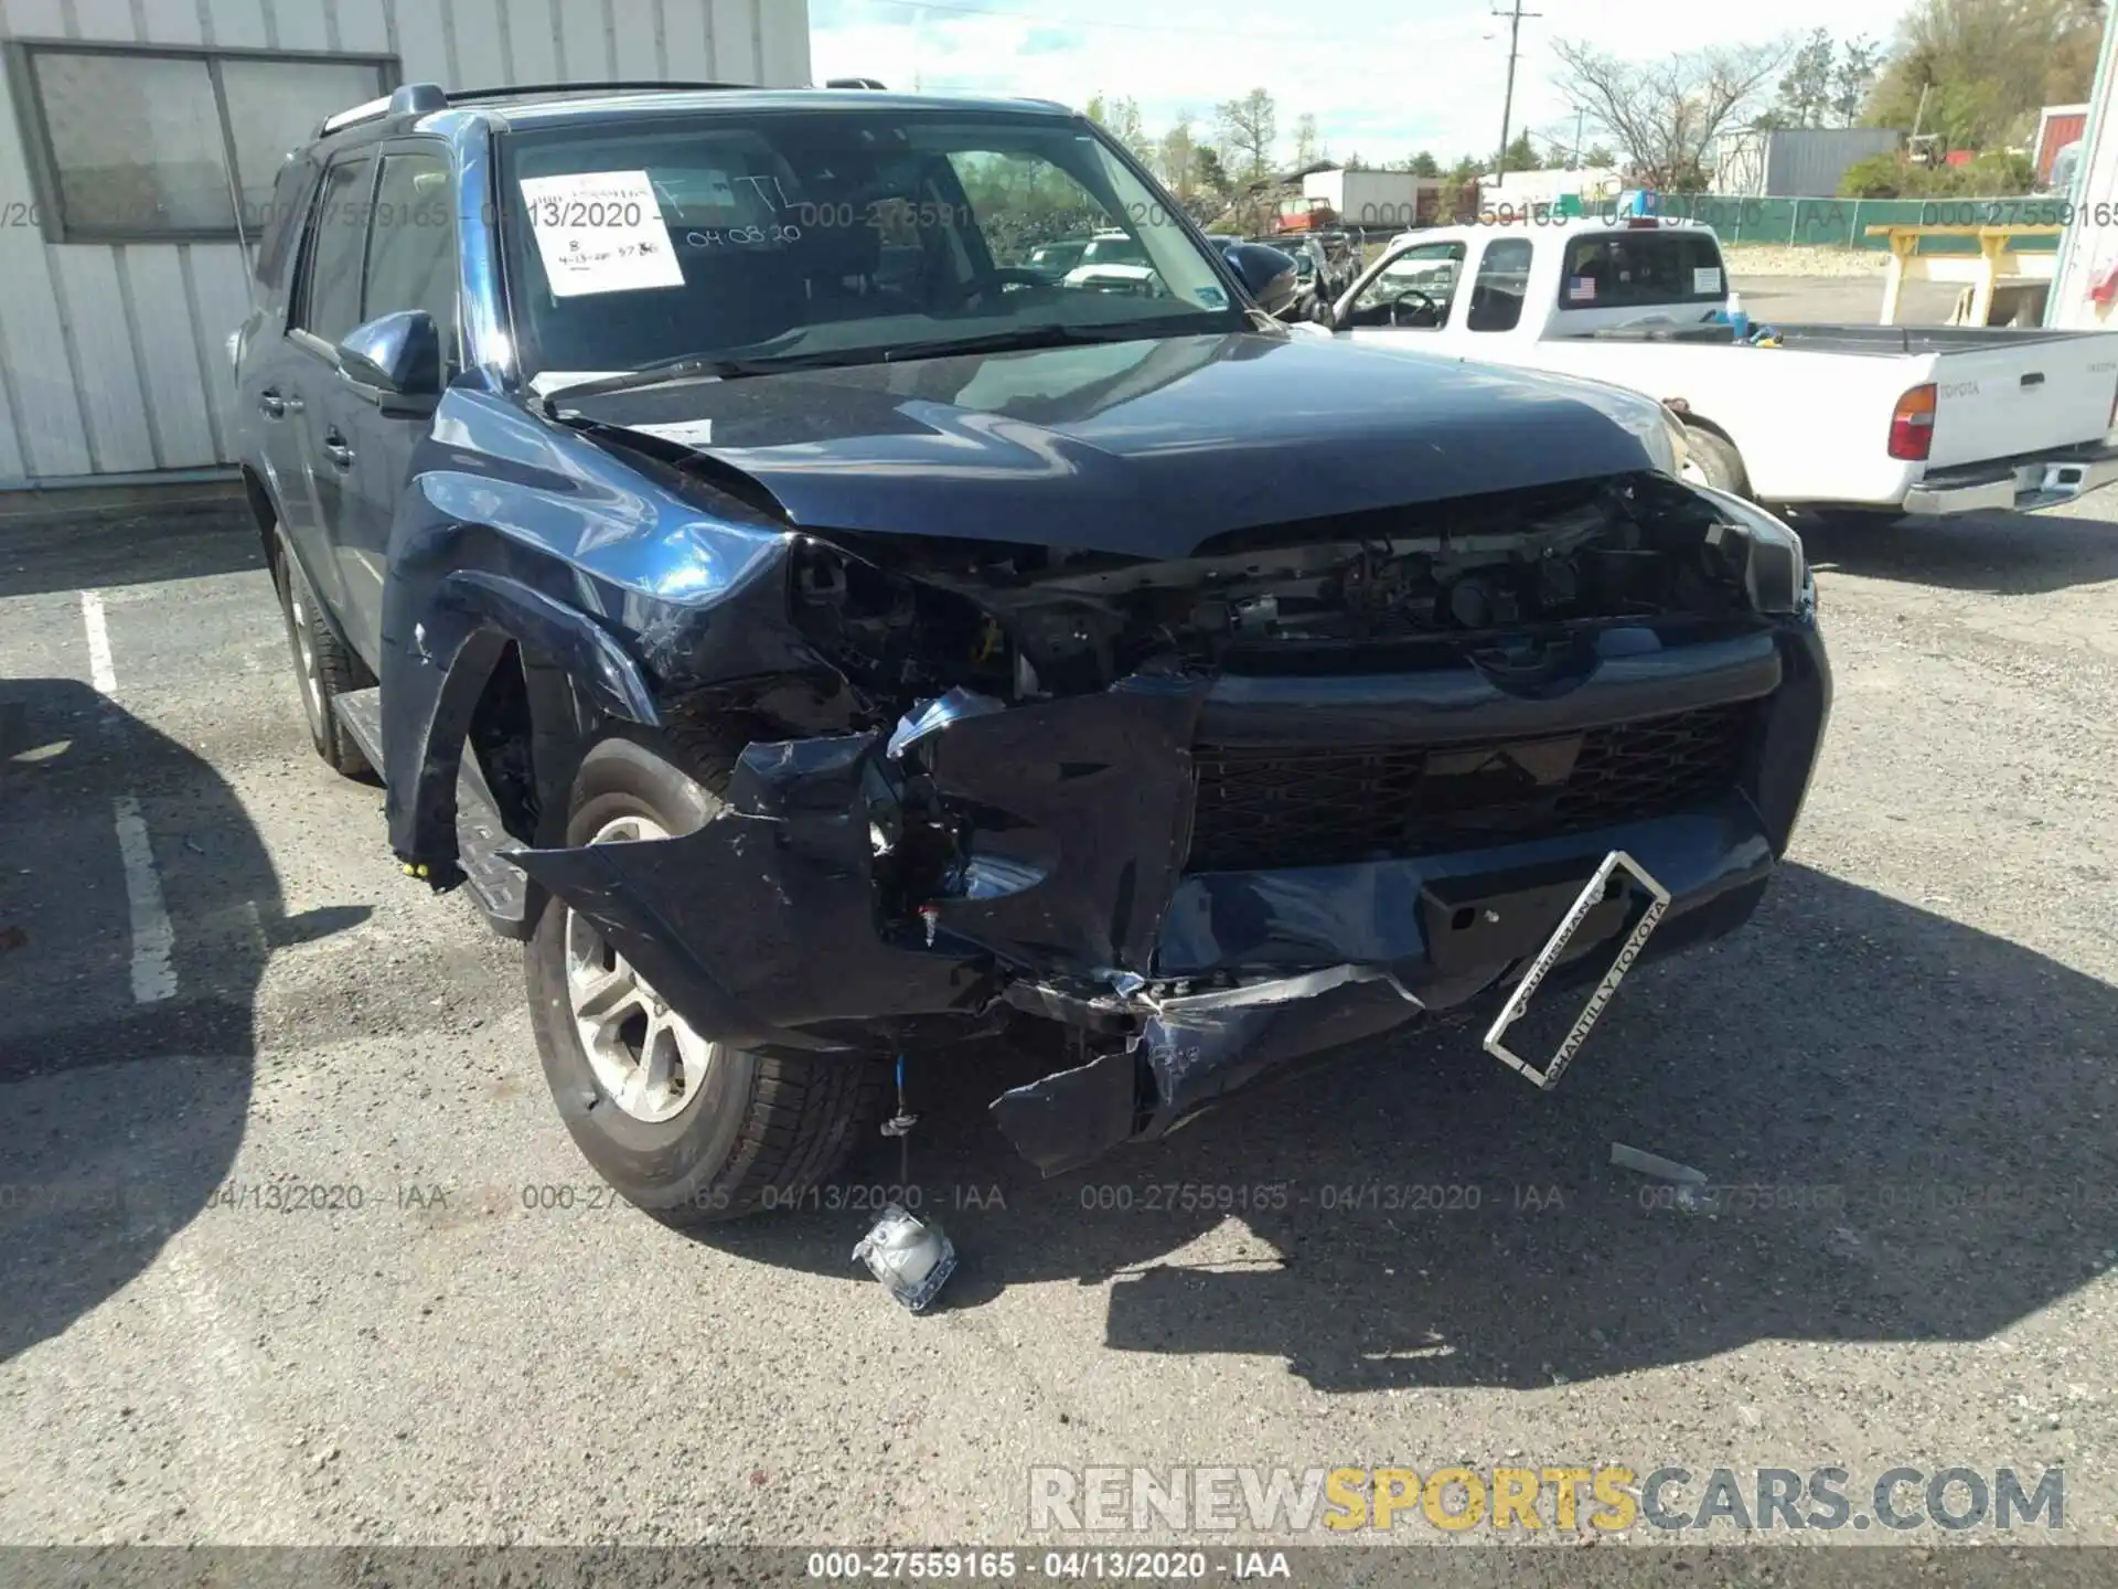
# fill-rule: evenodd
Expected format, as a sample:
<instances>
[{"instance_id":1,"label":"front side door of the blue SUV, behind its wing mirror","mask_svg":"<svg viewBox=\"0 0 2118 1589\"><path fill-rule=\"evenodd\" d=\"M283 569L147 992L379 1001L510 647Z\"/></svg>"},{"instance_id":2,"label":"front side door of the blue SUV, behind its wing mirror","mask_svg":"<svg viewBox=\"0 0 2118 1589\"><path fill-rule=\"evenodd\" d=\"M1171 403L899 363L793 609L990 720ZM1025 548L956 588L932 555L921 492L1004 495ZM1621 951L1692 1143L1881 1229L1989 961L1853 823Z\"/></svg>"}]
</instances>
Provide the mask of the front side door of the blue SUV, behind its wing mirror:
<instances>
[{"instance_id":1,"label":"front side door of the blue SUV, behind its wing mirror","mask_svg":"<svg viewBox=\"0 0 2118 1589\"><path fill-rule=\"evenodd\" d=\"M424 309L441 331L443 383L460 369L455 214L449 155L434 142L392 144L381 157L366 231L356 324L402 309ZM337 555L352 625L381 636L390 525L411 477L413 449L430 417L381 411L381 394L339 375L330 394L328 460L339 468ZM352 460L343 462L349 451ZM356 640L356 646L362 644ZM375 665L375 659L369 659Z\"/></svg>"}]
</instances>

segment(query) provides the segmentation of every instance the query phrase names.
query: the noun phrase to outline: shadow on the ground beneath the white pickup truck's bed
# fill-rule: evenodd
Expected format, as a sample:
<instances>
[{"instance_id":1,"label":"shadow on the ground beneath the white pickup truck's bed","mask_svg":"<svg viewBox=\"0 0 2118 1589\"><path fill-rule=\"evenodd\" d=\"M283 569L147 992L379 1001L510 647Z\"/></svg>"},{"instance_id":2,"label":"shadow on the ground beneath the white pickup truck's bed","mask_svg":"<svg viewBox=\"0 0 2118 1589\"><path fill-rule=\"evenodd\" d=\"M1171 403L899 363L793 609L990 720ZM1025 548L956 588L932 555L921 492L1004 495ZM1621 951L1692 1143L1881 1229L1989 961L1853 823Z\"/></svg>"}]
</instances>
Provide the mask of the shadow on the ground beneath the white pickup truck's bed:
<instances>
[{"instance_id":1,"label":"shadow on the ground beneath the white pickup truck's bed","mask_svg":"<svg viewBox=\"0 0 2118 1589\"><path fill-rule=\"evenodd\" d=\"M1796 519L1809 559L1826 570L1936 585L1946 591L2040 595L2118 578L2118 492L2090 498L2097 517L1974 513L1819 525Z\"/></svg>"}]
</instances>

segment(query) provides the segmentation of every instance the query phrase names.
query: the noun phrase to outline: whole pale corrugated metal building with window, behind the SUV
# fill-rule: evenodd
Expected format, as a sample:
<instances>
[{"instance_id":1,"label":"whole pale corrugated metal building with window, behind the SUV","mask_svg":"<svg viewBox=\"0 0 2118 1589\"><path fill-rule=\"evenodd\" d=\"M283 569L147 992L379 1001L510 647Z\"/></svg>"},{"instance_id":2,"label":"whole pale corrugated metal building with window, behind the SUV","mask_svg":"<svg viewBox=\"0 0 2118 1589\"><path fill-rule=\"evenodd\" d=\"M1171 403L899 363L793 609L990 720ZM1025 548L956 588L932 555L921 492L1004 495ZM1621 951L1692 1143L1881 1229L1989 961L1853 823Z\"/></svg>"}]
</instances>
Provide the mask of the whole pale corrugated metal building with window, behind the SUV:
<instances>
[{"instance_id":1,"label":"whole pale corrugated metal building with window, behind the SUV","mask_svg":"<svg viewBox=\"0 0 2118 1589\"><path fill-rule=\"evenodd\" d=\"M809 4L0 0L0 49L6 489L227 460L244 239L333 110L419 81L807 83Z\"/></svg>"}]
</instances>

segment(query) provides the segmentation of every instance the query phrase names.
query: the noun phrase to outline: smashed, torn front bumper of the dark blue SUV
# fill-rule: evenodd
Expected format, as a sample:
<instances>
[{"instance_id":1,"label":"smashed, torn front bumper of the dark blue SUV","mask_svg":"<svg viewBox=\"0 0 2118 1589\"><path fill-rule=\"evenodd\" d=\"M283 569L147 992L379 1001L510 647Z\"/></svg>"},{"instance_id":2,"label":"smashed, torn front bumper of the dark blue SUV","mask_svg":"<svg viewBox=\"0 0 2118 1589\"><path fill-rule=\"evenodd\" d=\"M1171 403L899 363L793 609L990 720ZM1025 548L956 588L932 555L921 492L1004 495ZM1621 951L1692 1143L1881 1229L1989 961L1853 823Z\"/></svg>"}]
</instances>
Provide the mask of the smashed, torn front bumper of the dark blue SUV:
<instances>
[{"instance_id":1,"label":"smashed, torn front bumper of the dark blue SUV","mask_svg":"<svg viewBox=\"0 0 2118 1589\"><path fill-rule=\"evenodd\" d=\"M1612 631L1561 695L1476 663L953 693L894 735L750 746L693 835L517 862L716 1040L887 1053L1057 1023L1072 1064L993 1100L1057 1174L1288 1059L1497 1006L1612 850L1669 892L1650 958L1739 926L1828 710L1807 614ZM1597 975L1641 907L1620 875L1546 985Z\"/></svg>"}]
</instances>

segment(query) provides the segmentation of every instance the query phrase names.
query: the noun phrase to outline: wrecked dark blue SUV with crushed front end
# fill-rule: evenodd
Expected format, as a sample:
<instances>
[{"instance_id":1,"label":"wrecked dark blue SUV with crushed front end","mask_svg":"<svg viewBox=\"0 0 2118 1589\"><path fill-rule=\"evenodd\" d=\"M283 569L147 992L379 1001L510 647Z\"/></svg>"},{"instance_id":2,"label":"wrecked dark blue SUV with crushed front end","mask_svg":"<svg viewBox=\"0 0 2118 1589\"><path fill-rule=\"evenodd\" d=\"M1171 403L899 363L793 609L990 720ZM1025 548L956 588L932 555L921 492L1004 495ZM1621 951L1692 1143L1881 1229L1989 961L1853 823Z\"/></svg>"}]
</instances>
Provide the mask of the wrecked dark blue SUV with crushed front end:
<instances>
[{"instance_id":1,"label":"wrecked dark blue SUV with crushed front end","mask_svg":"<svg viewBox=\"0 0 2118 1589\"><path fill-rule=\"evenodd\" d=\"M233 352L311 735L527 941L559 1110L663 1218L976 1040L1046 1045L993 1100L1046 1172L1425 1011L1550 1083L1788 845L1785 525L1654 403L1290 333L1284 261L1067 110L415 85L275 212ZM1123 292L1029 265L1106 229Z\"/></svg>"}]
</instances>

